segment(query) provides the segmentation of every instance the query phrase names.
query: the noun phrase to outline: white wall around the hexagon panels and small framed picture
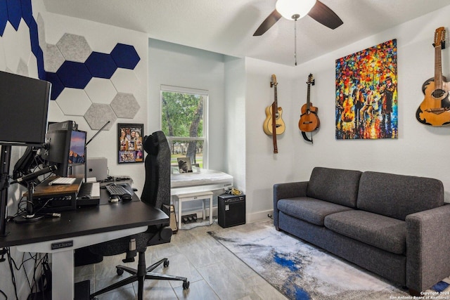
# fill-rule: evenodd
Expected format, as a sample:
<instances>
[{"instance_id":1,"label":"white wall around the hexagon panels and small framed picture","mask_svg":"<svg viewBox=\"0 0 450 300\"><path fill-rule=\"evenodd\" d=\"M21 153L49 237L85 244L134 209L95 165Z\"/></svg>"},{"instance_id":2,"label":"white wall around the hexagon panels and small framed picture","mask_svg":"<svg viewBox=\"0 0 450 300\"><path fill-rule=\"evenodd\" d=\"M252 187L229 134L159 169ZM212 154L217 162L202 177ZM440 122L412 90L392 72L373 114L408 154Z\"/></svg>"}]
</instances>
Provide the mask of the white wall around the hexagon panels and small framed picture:
<instances>
[{"instance_id":1,"label":"white wall around the hexagon panels and small framed picture","mask_svg":"<svg viewBox=\"0 0 450 300\"><path fill-rule=\"evenodd\" d=\"M148 76L148 46L147 46L147 34L142 32L135 32L132 30L125 30L119 27L113 27L110 25L104 25L98 22L92 22L89 20L82 20L78 18L70 18L63 15L57 15L54 13L42 13L45 25L45 38L47 44L55 45L63 34L70 33L82 36L86 39L92 51L101 53L110 53L117 43L132 45L136 49L141 60L136 65L134 70L116 70L116 72L128 72L129 77L135 77L135 81L128 83L127 79L122 89L127 91L115 91L124 93L133 93L137 102L139 103L139 111L133 119L119 118L111 126L108 126L106 130L96 136L96 138L89 143L87 148L87 157L106 157L108 159L108 169L110 176L123 176L127 175L133 178L134 186L138 190L142 190L144 182L144 168L143 164L118 164L117 162L117 123L138 123L144 124L144 132L148 133L146 128L147 116L147 76ZM45 54L45 52L44 52ZM122 85L122 86L123 86ZM120 86L117 84L117 86ZM102 89L99 85L96 89ZM115 87L115 89L118 89ZM101 93L101 91L99 91ZM63 97L63 93L60 97ZM58 101L60 99L58 98ZM83 116L70 114L66 115L60 110L60 107L56 104L56 101L52 100L49 107L49 121L50 122L62 122L65 120L73 120L79 125L79 130L87 131L88 141L97 130L91 130L89 124L86 122ZM108 129L110 128L110 129Z\"/></svg>"}]
</instances>

